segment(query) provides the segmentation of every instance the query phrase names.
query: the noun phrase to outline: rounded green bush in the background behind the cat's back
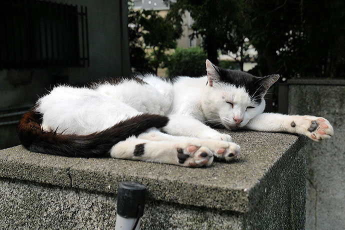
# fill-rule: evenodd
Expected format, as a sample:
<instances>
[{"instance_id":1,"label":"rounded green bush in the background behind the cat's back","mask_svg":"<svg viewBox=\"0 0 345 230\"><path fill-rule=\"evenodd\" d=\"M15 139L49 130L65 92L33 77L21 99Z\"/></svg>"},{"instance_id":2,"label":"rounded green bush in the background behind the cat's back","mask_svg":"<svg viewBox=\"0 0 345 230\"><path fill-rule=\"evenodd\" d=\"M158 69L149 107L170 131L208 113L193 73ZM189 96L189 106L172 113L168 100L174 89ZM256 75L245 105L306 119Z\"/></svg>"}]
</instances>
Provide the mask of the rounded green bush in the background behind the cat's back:
<instances>
[{"instance_id":1,"label":"rounded green bush in the background behind the cat's back","mask_svg":"<svg viewBox=\"0 0 345 230\"><path fill-rule=\"evenodd\" d=\"M176 48L166 62L168 76L202 76L205 70L206 53L200 47Z\"/></svg>"}]
</instances>

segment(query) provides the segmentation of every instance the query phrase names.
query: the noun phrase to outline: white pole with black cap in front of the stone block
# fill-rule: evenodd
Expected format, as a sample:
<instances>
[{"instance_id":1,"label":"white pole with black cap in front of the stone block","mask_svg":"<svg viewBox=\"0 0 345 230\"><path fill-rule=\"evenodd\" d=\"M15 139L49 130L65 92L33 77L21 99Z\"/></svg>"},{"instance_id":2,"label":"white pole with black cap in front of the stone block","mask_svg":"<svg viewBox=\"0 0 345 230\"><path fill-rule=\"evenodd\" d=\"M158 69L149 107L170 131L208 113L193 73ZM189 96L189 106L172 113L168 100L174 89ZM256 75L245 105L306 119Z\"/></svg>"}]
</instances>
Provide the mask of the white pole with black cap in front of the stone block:
<instances>
[{"instance_id":1,"label":"white pole with black cap in front of the stone block","mask_svg":"<svg viewBox=\"0 0 345 230\"><path fill-rule=\"evenodd\" d=\"M139 230L146 187L138 182L120 182L117 189L115 230Z\"/></svg>"}]
</instances>

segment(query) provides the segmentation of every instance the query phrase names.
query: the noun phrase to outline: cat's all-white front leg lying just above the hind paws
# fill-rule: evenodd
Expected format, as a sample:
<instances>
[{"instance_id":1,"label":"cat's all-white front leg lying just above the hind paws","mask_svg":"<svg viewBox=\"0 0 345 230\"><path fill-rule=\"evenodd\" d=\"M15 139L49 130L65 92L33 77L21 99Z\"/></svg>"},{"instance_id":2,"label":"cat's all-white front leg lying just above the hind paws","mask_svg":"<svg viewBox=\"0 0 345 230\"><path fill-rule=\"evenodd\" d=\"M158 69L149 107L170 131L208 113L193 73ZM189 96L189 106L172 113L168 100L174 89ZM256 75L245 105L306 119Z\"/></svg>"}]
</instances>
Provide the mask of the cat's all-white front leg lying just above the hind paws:
<instances>
[{"instance_id":1,"label":"cat's all-white front leg lying just above the hind paws","mask_svg":"<svg viewBox=\"0 0 345 230\"><path fill-rule=\"evenodd\" d=\"M201 121L188 116L169 115L169 122L162 130L176 136L193 136L201 139L216 139L232 142L230 135L220 133Z\"/></svg>"}]
</instances>

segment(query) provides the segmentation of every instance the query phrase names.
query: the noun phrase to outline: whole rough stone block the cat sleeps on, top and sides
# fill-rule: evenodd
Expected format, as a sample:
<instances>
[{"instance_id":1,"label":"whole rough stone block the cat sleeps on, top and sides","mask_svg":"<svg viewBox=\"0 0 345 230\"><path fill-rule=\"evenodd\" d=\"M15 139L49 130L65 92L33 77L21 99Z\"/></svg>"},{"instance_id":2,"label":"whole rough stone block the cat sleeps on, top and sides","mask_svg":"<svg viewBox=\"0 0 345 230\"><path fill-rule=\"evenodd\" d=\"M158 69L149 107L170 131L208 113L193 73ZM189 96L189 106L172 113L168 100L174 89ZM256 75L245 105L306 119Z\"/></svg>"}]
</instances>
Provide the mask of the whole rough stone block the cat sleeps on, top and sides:
<instances>
[{"instance_id":1,"label":"whole rough stone block the cat sleeps on, top and sides","mask_svg":"<svg viewBox=\"0 0 345 230\"><path fill-rule=\"evenodd\" d=\"M69 217L54 218L51 228L79 229L84 224L108 229L114 223L117 184L123 180L147 187L144 229L303 228L305 139L253 131L231 135L242 147L239 158L208 168L66 158L22 146L0 150L0 195L6 197L0 201L0 228L15 222L23 229L35 229L25 225L25 218L42 226L62 215ZM42 213L44 218L39 217Z\"/></svg>"}]
</instances>

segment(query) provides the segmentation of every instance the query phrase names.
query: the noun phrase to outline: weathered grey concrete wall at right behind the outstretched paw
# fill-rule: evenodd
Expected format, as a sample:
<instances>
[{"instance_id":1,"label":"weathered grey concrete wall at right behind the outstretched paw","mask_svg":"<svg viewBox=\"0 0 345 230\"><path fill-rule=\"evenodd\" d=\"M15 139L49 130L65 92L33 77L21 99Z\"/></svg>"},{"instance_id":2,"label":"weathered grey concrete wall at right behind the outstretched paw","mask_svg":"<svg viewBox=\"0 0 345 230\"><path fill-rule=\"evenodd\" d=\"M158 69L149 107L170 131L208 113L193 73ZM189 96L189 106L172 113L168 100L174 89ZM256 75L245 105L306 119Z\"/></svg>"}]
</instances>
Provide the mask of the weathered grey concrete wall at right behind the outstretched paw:
<instances>
[{"instance_id":1,"label":"weathered grey concrete wall at right behind the outstretched paw","mask_svg":"<svg viewBox=\"0 0 345 230\"><path fill-rule=\"evenodd\" d=\"M323 116L334 135L307 143L305 229L345 229L345 79L289 80L289 113Z\"/></svg>"}]
</instances>

